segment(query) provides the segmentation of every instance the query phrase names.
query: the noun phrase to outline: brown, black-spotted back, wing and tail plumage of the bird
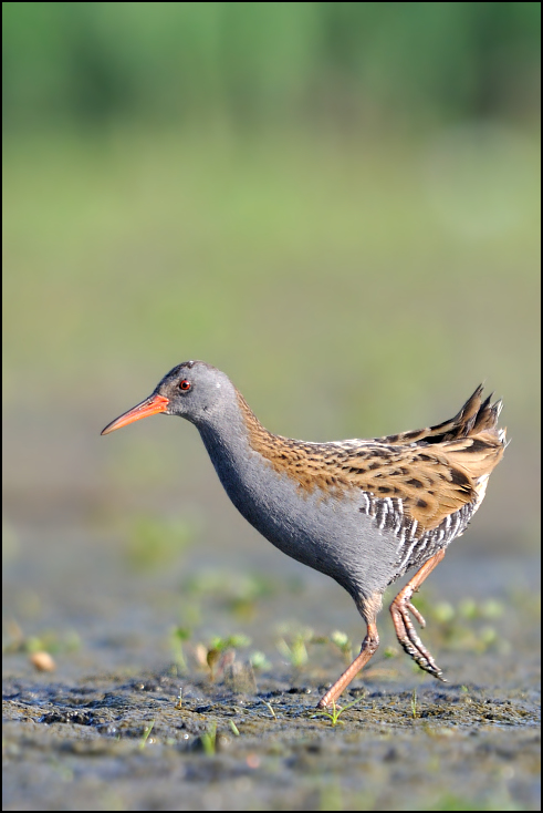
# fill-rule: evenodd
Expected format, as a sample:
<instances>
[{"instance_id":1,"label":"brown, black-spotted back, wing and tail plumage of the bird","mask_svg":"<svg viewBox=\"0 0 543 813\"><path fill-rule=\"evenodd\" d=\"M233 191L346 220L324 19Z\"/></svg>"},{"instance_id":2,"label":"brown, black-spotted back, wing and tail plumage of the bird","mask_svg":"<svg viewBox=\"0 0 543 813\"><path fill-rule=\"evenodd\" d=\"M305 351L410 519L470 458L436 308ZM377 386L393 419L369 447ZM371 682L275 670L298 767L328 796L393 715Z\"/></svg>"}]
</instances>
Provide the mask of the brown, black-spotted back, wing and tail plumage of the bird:
<instances>
[{"instance_id":1,"label":"brown, black-spotted back, wing and tail plumage of the bird","mask_svg":"<svg viewBox=\"0 0 543 813\"><path fill-rule=\"evenodd\" d=\"M404 524L416 524L415 535L420 537L466 506L471 516L503 455L505 432L498 429L501 402L482 401L481 394L478 387L455 418L436 426L331 443L274 435L239 393L238 399L251 446L278 473L296 481L301 495L359 490L367 496L369 513L401 514ZM386 526L390 523L391 516Z\"/></svg>"}]
</instances>

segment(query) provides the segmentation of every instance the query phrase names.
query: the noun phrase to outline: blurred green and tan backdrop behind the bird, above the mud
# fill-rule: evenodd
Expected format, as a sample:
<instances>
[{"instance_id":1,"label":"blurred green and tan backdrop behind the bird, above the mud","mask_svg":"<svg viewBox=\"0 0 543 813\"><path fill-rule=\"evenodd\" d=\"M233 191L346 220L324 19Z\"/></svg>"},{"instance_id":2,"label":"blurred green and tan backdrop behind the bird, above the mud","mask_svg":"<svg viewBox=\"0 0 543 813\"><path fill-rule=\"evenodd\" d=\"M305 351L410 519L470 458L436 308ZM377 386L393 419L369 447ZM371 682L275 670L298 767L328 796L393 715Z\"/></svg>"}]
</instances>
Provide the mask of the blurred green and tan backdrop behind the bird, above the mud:
<instances>
[{"instance_id":1,"label":"blurred green and tan backdrop behind the bird, above the mud","mask_svg":"<svg viewBox=\"0 0 543 813\"><path fill-rule=\"evenodd\" d=\"M441 421L484 380L513 442L479 537L533 549L540 13L3 3L9 521L230 523L190 426L98 438L201 358L307 440Z\"/></svg>"}]
</instances>

